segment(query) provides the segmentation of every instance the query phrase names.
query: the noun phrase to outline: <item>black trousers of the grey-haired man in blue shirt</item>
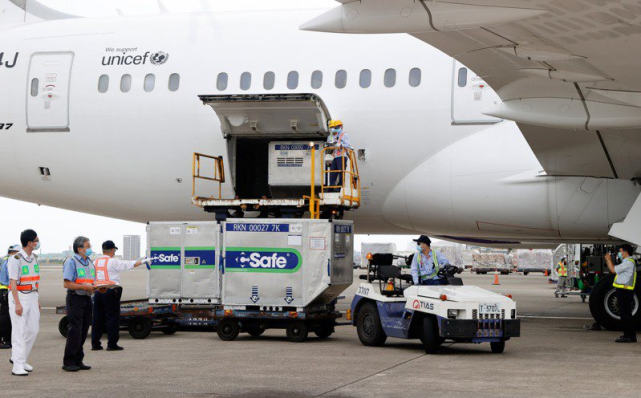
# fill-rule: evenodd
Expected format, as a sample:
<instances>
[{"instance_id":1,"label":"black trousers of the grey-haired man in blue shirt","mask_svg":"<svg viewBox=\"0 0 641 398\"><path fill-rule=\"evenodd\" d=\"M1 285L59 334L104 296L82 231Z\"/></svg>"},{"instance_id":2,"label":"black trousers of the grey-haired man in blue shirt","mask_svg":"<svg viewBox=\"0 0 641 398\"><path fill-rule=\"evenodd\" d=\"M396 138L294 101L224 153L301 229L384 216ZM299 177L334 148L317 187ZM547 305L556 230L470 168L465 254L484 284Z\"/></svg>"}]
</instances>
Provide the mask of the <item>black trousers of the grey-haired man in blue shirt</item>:
<instances>
[{"instance_id":1,"label":"black trousers of the grey-haired man in blue shirt","mask_svg":"<svg viewBox=\"0 0 641 398\"><path fill-rule=\"evenodd\" d=\"M78 296L67 293L67 319L69 331L63 364L65 366L80 365L85 357L82 346L87 340L89 326L91 325L91 309L93 304L90 296Z\"/></svg>"}]
</instances>

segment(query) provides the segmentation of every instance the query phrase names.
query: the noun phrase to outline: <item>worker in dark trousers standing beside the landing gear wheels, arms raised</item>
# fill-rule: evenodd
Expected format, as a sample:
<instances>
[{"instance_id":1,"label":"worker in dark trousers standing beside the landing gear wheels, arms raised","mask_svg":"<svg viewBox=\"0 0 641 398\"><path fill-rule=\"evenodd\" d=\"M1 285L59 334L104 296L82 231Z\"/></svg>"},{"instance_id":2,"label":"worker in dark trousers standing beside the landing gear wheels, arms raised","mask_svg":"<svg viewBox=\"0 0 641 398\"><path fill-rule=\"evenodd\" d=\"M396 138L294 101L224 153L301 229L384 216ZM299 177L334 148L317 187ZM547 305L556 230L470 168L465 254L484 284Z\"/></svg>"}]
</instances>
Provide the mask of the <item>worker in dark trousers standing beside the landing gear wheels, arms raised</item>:
<instances>
[{"instance_id":1,"label":"worker in dark trousers standing beside the landing gear wheels, arms raised","mask_svg":"<svg viewBox=\"0 0 641 398\"><path fill-rule=\"evenodd\" d=\"M608 264L610 273L616 274L612 286L616 288L617 302L619 303L619 313L623 323L623 336L615 340L617 343L636 343L637 333L632 320L632 306L634 304L634 287L637 283L637 264L632 258L634 249L628 244L619 246L617 258L621 261L619 265L614 265L612 255L605 255L605 261Z\"/></svg>"}]
</instances>

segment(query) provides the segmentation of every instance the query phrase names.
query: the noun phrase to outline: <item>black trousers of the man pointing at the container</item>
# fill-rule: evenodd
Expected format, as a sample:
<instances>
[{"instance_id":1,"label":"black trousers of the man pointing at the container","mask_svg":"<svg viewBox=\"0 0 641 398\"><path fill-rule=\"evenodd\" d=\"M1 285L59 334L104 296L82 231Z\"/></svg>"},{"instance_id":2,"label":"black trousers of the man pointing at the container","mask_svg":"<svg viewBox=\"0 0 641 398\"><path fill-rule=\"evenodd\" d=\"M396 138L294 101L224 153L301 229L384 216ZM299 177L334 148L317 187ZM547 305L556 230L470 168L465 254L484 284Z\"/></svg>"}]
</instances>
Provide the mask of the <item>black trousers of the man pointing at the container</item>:
<instances>
[{"instance_id":1,"label":"black trousers of the man pointing at the container","mask_svg":"<svg viewBox=\"0 0 641 398\"><path fill-rule=\"evenodd\" d=\"M120 339L120 298L122 288L109 289L94 295L91 346L100 347L100 339L107 332L107 347L115 347Z\"/></svg>"}]
</instances>

